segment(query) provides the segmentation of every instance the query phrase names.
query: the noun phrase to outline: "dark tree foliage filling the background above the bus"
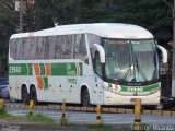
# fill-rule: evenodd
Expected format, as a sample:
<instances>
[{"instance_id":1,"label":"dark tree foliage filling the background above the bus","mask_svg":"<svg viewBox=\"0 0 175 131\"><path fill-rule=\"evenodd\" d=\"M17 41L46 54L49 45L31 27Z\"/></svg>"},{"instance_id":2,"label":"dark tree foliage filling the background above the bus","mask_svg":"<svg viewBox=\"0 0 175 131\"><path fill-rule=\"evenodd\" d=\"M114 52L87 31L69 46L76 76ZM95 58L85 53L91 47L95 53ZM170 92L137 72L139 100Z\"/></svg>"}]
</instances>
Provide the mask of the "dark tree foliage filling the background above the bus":
<instances>
[{"instance_id":1,"label":"dark tree foliage filling the background above the bus","mask_svg":"<svg viewBox=\"0 0 175 131\"><path fill-rule=\"evenodd\" d=\"M10 35L19 28L15 0L0 0L0 56L8 55ZM167 0L173 5L173 0ZM24 32L34 32L55 24L130 23L149 29L161 45L172 40L172 9L163 0L35 0L26 5ZM5 55L4 55L5 53Z\"/></svg>"}]
</instances>

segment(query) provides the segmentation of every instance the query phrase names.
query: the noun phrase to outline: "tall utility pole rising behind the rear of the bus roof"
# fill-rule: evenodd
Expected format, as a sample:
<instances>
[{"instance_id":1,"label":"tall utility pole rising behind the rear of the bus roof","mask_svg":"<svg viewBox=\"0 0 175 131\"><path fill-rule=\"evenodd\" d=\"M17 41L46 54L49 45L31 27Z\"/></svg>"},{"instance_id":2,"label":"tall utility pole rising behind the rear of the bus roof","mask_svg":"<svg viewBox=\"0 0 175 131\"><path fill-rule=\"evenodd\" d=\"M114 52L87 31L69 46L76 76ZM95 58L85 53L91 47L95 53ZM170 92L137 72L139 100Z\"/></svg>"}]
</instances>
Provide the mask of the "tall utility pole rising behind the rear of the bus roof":
<instances>
[{"instance_id":1,"label":"tall utility pole rising behind the rear of the bus roof","mask_svg":"<svg viewBox=\"0 0 175 131\"><path fill-rule=\"evenodd\" d=\"M23 32L23 12L24 12L24 2L23 0L20 1L20 26L19 32Z\"/></svg>"}]
</instances>

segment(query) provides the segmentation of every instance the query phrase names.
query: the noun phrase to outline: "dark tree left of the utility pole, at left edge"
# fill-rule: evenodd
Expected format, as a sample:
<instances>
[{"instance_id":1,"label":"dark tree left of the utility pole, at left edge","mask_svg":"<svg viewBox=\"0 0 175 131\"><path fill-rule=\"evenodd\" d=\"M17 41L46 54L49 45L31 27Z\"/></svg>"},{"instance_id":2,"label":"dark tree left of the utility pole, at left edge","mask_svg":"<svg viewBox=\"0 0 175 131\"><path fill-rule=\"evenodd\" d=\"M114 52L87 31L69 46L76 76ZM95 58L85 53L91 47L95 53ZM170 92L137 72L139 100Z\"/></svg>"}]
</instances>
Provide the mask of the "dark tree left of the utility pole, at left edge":
<instances>
[{"instance_id":1,"label":"dark tree left of the utility pole, at left edge","mask_svg":"<svg viewBox=\"0 0 175 131\"><path fill-rule=\"evenodd\" d=\"M0 75L8 71L8 41L18 28L18 14L14 12L13 0L0 1Z\"/></svg>"}]
</instances>

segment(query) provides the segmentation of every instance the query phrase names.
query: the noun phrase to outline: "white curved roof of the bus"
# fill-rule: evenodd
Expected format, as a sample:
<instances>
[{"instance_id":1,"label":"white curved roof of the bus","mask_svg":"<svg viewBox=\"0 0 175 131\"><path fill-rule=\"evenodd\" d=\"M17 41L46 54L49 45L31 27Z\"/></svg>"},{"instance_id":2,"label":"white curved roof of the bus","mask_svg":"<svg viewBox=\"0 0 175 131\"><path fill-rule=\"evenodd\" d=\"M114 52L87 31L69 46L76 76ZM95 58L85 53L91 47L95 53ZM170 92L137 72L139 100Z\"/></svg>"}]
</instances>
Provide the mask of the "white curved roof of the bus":
<instances>
[{"instance_id":1,"label":"white curved roof of the bus","mask_svg":"<svg viewBox=\"0 0 175 131\"><path fill-rule=\"evenodd\" d=\"M59 25L52 28L43 29L38 32L14 34L11 36L11 38L68 35L68 34L82 34L82 33L92 33L101 37L109 37L109 38L126 38L126 39L153 38L153 35L143 27L140 27L138 25L121 24L121 23Z\"/></svg>"}]
</instances>

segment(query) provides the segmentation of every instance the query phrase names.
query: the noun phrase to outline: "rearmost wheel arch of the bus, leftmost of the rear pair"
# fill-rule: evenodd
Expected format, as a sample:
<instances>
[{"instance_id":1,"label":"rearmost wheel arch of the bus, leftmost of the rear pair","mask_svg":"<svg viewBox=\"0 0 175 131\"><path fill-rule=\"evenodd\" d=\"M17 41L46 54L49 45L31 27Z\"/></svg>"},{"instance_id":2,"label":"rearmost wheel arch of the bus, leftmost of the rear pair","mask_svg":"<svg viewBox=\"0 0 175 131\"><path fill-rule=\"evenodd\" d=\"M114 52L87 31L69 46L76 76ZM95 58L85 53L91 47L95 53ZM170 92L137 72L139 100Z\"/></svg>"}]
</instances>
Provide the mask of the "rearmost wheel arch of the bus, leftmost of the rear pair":
<instances>
[{"instance_id":1,"label":"rearmost wheel arch of the bus, leftmost of the rear pair","mask_svg":"<svg viewBox=\"0 0 175 131\"><path fill-rule=\"evenodd\" d=\"M27 92L27 87L25 84L22 84L21 86L21 100L23 104L28 104L28 92Z\"/></svg>"}]
</instances>

